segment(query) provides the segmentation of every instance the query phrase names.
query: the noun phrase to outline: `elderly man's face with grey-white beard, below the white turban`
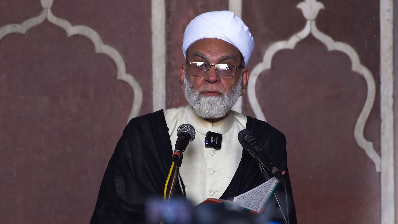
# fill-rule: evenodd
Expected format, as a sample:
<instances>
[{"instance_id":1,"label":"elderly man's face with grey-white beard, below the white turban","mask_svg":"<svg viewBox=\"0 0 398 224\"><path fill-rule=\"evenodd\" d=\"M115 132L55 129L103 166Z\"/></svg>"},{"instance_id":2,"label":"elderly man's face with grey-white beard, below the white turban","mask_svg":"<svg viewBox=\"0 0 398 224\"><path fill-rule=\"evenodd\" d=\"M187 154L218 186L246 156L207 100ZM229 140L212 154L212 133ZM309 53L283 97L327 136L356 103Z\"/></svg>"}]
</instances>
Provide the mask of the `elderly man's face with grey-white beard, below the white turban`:
<instances>
[{"instance_id":1,"label":"elderly man's face with grey-white beard, below the white turban","mask_svg":"<svg viewBox=\"0 0 398 224\"><path fill-rule=\"evenodd\" d=\"M239 50L220 39L205 38L193 43L187 50L187 62L241 65ZM236 68L232 78L220 78L211 66L204 76L196 76L190 65L180 69L181 89L189 104L202 118L217 119L226 116L239 96L246 92L248 69ZM213 110L211 112L210 110Z\"/></svg>"}]
</instances>

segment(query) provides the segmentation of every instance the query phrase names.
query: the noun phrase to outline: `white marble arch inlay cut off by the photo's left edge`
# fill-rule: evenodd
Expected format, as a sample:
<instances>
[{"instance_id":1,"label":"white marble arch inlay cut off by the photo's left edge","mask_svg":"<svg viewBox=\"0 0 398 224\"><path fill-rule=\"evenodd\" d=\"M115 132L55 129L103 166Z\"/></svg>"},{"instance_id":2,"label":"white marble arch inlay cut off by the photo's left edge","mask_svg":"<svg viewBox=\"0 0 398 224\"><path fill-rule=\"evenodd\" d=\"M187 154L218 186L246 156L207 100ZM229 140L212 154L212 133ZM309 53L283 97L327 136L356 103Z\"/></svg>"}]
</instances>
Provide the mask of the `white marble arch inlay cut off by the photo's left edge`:
<instances>
[{"instance_id":1,"label":"white marble arch inlay cut off by the photo's left edge","mask_svg":"<svg viewBox=\"0 0 398 224\"><path fill-rule=\"evenodd\" d=\"M100 35L94 29L87 26L71 26L70 23L61 18L57 18L51 12L52 0L41 0L43 11L39 16L25 20L21 24L8 24L0 28L0 40L10 33L21 33L25 34L30 28L41 24L46 18L49 22L63 28L68 37L72 35L83 35L90 39L95 46L96 53L104 53L113 59L117 67L117 79L123 80L128 83L134 92L133 107L131 108L129 119L127 122L136 116L138 116L141 105L142 105L142 89L139 83L130 74L126 73L125 61L121 57L120 53L113 47L103 44Z\"/></svg>"}]
</instances>

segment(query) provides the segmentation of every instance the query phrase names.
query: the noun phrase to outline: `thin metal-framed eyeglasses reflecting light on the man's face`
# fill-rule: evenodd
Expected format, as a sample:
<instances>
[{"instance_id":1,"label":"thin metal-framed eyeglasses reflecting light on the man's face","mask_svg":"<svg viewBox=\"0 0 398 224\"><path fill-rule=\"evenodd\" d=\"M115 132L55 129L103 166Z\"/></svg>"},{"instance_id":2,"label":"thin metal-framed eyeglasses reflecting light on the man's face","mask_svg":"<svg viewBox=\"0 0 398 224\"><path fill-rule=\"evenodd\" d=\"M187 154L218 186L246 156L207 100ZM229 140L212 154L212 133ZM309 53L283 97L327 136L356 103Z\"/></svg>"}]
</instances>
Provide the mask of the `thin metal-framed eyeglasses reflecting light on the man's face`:
<instances>
[{"instance_id":1,"label":"thin metal-framed eyeglasses reflecting light on the man's face","mask_svg":"<svg viewBox=\"0 0 398 224\"><path fill-rule=\"evenodd\" d=\"M209 64L201 61L187 62L191 65L191 69L194 75L203 76L206 75L207 71L214 65L216 67L216 73L220 78L232 78L235 74L236 68L242 68L242 66L232 66L228 64Z\"/></svg>"}]
</instances>

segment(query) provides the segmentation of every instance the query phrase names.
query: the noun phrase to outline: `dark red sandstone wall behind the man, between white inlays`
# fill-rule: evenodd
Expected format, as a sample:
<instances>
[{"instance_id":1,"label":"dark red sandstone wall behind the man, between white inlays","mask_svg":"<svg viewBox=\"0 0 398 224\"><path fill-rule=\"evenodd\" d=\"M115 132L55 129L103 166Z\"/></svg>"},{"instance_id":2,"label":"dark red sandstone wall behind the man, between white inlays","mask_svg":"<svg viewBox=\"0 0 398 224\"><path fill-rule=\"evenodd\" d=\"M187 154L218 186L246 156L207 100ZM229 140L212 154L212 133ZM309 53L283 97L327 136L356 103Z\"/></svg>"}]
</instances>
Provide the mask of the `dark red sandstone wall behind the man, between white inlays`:
<instances>
[{"instance_id":1,"label":"dark red sandstone wall behind the man, between white inlays","mask_svg":"<svg viewBox=\"0 0 398 224\"><path fill-rule=\"evenodd\" d=\"M185 26L228 1L166 0L166 108L179 90ZM242 19L256 41L248 65L304 28L295 1L244 0ZM316 25L351 46L372 73L376 97L364 136L380 154L379 1L323 0ZM38 16L39 0L0 2L0 29ZM142 88L139 115L152 112L150 1L55 0L52 13L87 26L113 47ZM107 161L135 95L116 79L109 55L83 35L45 20L0 39L0 217L2 223L88 223ZM255 88L267 122L287 138L299 223L380 223L380 173L354 139L367 84L349 57L309 35L278 51ZM243 113L255 116L243 98Z\"/></svg>"}]
</instances>

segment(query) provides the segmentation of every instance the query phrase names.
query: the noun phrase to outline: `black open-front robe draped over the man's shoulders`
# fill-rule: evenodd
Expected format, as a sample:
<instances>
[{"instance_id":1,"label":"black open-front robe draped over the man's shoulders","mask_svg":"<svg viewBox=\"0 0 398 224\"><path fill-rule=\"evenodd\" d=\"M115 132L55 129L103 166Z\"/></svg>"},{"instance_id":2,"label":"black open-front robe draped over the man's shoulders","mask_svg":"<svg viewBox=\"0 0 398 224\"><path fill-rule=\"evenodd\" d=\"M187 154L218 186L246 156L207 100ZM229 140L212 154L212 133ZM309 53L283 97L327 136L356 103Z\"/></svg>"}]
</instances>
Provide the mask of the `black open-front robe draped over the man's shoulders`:
<instances>
[{"instance_id":1,"label":"black open-front robe draped over the man's shoulders","mask_svg":"<svg viewBox=\"0 0 398 224\"><path fill-rule=\"evenodd\" d=\"M290 223L296 223L286 165L285 136L268 123L251 117L248 117L246 129L256 135L279 169L286 171L284 176L289 201L289 219ZM133 118L123 131L109 160L90 223L144 223L145 200L148 197L163 196L164 184L172 163L172 153L172 143L163 110ZM259 170L258 161L248 151L243 150L238 169L220 198L232 200L234 196L249 191L263 182L264 177ZM277 191L281 197L281 204L285 206L285 191L282 184L279 184ZM183 193L179 187L176 187L174 196L178 195ZM273 200L268 202L265 210L279 213L275 209Z\"/></svg>"}]
</instances>

